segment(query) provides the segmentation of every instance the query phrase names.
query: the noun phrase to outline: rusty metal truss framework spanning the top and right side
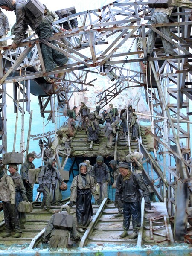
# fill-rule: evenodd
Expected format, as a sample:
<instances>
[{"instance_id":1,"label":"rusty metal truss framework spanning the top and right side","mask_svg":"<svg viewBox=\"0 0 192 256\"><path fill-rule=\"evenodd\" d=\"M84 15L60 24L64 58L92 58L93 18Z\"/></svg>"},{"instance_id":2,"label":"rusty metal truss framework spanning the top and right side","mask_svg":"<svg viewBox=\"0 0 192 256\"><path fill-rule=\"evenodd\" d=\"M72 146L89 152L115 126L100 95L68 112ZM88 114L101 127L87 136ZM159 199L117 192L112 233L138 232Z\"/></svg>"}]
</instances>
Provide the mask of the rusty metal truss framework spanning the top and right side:
<instances>
[{"instance_id":1,"label":"rusty metal truss framework spanning the top and right side","mask_svg":"<svg viewBox=\"0 0 192 256\"><path fill-rule=\"evenodd\" d=\"M170 23L163 24L170 26L171 38L158 30L162 24L150 24L152 12L146 1L116 0L100 9L76 13L56 21L53 24L56 33L52 38L38 40L32 34L18 45L15 52L10 47L0 47L0 152L6 151L6 84L15 83L15 106L20 102L17 92L20 84L26 111L30 111L31 92L39 97L42 116L48 112L48 119L54 122L52 95L57 94L60 108L66 105L69 108L75 93L91 91L98 77L105 79L109 76L102 67L110 65L118 78L98 93L96 103L104 107L125 90L144 88L151 111L151 131L148 133L154 137L154 156L141 145L144 162L147 163L146 175L150 184L158 183L160 189L157 192L154 186L154 192L157 192L160 201L167 203L169 215L175 217L175 238L183 241L187 222L192 224L189 120L192 100L191 10L176 9ZM70 20L74 18L78 20L77 28L60 29L59 23L67 21L70 25ZM149 29L158 35L150 58L146 52ZM164 53L160 37L172 43L174 56ZM58 47L52 44L53 40ZM62 52L70 61L47 73L40 43ZM63 77L57 79L55 75L61 72ZM54 77L55 82L47 83L46 77ZM178 204L179 201L182 204Z\"/></svg>"}]
</instances>

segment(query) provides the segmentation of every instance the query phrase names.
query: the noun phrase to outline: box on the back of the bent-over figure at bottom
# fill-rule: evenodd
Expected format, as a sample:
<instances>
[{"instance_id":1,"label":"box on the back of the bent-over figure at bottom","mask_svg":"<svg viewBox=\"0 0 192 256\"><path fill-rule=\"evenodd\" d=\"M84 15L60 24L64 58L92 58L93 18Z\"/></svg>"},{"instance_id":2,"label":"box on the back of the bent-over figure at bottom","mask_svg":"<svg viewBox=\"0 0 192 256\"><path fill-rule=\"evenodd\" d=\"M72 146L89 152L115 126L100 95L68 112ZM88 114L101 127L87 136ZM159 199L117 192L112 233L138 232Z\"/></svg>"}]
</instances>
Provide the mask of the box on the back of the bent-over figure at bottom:
<instances>
[{"instance_id":1,"label":"box on the back of the bent-over figure at bottom","mask_svg":"<svg viewBox=\"0 0 192 256\"><path fill-rule=\"evenodd\" d=\"M55 228L71 228L73 223L73 216L63 213L55 213L53 219L53 227Z\"/></svg>"}]
</instances>

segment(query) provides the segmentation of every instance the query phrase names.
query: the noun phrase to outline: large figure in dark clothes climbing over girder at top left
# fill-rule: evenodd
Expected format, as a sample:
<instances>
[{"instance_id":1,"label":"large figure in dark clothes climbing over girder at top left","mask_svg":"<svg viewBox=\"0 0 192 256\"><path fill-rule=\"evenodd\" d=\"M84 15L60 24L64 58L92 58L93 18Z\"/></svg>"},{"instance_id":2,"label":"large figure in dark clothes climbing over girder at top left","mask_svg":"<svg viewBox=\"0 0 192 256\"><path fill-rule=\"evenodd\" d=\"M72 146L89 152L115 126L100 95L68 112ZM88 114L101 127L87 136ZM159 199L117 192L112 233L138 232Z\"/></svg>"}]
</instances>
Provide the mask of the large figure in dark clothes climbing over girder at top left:
<instances>
[{"instance_id":1,"label":"large figure in dark clothes climbing over girder at top left","mask_svg":"<svg viewBox=\"0 0 192 256\"><path fill-rule=\"evenodd\" d=\"M16 23L14 25L15 38L12 42L12 49L16 49L17 44L23 42L28 25L35 31L39 39L53 36L51 22L43 14L35 17L32 11L26 7L25 0L0 0L0 7L6 11L14 11L16 15ZM57 47L54 41L51 41L51 43ZM68 61L65 55L46 44L41 43L40 47L47 72L53 70L54 62L58 66L63 66Z\"/></svg>"}]
</instances>

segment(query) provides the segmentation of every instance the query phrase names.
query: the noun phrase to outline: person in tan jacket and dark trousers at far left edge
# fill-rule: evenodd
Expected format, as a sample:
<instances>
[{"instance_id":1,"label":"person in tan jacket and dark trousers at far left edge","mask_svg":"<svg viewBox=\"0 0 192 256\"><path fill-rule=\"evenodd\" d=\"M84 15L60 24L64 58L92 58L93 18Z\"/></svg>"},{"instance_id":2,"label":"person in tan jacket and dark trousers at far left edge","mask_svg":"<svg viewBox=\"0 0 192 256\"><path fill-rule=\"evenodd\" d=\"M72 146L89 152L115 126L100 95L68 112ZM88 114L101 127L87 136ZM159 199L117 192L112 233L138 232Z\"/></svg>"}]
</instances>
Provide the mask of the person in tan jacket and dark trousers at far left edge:
<instances>
[{"instance_id":1,"label":"person in tan jacket and dark trousers at far left edge","mask_svg":"<svg viewBox=\"0 0 192 256\"><path fill-rule=\"evenodd\" d=\"M13 230L15 235L12 237L21 237L22 229L15 205L15 185L11 177L3 171L4 166L0 166L0 201L3 203L3 214L5 220L6 232L2 237L9 237Z\"/></svg>"}]
</instances>

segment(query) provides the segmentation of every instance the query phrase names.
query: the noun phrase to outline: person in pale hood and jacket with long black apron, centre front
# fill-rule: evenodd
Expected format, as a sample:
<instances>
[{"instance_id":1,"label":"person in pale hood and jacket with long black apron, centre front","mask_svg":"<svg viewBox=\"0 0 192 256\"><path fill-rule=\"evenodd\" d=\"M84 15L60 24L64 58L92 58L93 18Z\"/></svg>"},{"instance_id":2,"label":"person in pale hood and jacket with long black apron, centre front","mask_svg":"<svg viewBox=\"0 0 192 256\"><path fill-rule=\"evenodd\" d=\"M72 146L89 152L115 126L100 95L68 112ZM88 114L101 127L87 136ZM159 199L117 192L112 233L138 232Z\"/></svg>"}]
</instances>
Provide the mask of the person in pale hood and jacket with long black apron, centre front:
<instances>
[{"instance_id":1,"label":"person in pale hood and jacket with long black apron, centre front","mask_svg":"<svg viewBox=\"0 0 192 256\"><path fill-rule=\"evenodd\" d=\"M87 172L87 164L80 163L79 175L74 177L71 184L70 207L76 202L76 218L80 233L85 232L85 228L90 224L93 216L91 195L98 199L93 177Z\"/></svg>"}]
</instances>

